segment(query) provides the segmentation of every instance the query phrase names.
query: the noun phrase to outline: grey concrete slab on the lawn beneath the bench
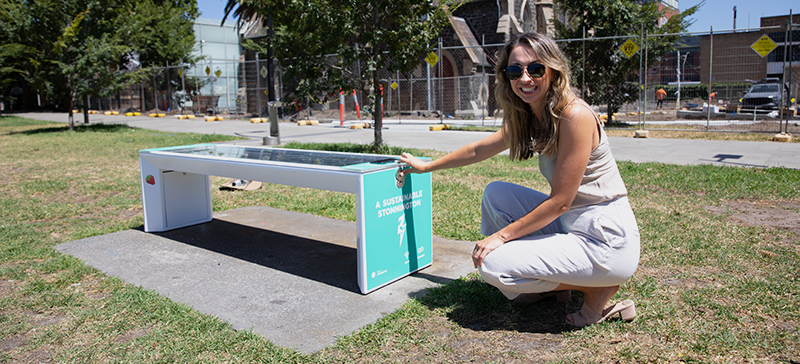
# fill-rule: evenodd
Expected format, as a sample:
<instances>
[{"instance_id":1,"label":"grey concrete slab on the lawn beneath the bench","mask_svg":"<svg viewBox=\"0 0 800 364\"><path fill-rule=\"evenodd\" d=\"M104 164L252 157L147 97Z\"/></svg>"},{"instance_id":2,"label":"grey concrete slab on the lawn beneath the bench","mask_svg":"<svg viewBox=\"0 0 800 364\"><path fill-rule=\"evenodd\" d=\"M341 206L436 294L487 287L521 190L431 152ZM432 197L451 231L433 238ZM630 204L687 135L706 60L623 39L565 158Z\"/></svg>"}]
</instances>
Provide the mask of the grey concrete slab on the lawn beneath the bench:
<instances>
[{"instance_id":1,"label":"grey concrete slab on the lawn beneath the bench","mask_svg":"<svg viewBox=\"0 0 800 364\"><path fill-rule=\"evenodd\" d=\"M473 244L434 237L433 265L368 295L356 280L356 225L268 207L217 212L164 233L142 229L56 250L123 281L312 353L473 271Z\"/></svg>"}]
</instances>

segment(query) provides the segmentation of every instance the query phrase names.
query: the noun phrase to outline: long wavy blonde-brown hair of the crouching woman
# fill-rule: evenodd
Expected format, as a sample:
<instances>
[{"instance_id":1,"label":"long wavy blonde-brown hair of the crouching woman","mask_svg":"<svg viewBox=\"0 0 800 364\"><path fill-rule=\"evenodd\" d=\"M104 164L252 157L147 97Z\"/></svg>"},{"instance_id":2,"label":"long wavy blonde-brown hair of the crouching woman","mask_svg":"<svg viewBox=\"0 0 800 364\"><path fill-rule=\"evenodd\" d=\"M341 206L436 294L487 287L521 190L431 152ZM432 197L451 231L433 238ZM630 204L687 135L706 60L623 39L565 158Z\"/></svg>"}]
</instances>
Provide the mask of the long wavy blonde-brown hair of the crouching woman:
<instances>
[{"instance_id":1,"label":"long wavy blonde-brown hair of the crouching woman","mask_svg":"<svg viewBox=\"0 0 800 364\"><path fill-rule=\"evenodd\" d=\"M511 88L505 73L508 57L517 46L530 47L539 63L550 69L553 77L547 90L545 112L541 120ZM564 108L577 98L572 91L567 57L551 38L539 33L519 34L498 51L495 65L495 97L503 108L503 138L510 147L512 160L525 160L534 153L554 155L558 149L558 126Z\"/></svg>"}]
</instances>

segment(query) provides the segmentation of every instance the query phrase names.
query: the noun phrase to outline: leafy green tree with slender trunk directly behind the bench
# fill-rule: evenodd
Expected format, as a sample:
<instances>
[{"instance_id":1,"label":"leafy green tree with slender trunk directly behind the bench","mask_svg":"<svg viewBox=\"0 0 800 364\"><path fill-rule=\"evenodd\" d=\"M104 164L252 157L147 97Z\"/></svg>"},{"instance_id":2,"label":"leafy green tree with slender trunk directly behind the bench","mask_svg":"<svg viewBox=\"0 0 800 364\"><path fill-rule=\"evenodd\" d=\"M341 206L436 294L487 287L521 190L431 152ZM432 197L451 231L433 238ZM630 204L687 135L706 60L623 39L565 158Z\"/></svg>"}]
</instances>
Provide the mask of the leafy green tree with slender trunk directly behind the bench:
<instances>
[{"instance_id":1,"label":"leafy green tree with slender trunk directly behind the bench","mask_svg":"<svg viewBox=\"0 0 800 364\"><path fill-rule=\"evenodd\" d=\"M454 0L228 0L226 15L233 11L240 22L272 19L275 36L268 45L281 60L284 79L297 82L296 98L320 102L338 97L339 90L358 89L369 95L372 110L380 110L378 72L416 68L457 5ZM379 151L383 115L372 115Z\"/></svg>"}]
</instances>

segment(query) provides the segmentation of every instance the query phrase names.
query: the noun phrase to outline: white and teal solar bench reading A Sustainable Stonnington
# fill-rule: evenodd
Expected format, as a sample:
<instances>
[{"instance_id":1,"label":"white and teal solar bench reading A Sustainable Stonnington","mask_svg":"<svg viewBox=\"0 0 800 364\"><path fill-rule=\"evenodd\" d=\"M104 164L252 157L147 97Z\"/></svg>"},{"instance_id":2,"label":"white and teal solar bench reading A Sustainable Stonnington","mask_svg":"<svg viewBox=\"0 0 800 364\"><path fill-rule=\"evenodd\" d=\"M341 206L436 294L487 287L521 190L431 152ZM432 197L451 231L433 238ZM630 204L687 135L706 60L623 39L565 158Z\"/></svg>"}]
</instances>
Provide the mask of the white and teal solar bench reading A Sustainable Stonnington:
<instances>
[{"instance_id":1,"label":"white and teal solar bench reading A Sustainable Stonnington","mask_svg":"<svg viewBox=\"0 0 800 364\"><path fill-rule=\"evenodd\" d=\"M356 195L358 284L366 294L432 264L430 174L396 156L226 144L139 151L144 225L159 232L212 219L209 176Z\"/></svg>"}]
</instances>

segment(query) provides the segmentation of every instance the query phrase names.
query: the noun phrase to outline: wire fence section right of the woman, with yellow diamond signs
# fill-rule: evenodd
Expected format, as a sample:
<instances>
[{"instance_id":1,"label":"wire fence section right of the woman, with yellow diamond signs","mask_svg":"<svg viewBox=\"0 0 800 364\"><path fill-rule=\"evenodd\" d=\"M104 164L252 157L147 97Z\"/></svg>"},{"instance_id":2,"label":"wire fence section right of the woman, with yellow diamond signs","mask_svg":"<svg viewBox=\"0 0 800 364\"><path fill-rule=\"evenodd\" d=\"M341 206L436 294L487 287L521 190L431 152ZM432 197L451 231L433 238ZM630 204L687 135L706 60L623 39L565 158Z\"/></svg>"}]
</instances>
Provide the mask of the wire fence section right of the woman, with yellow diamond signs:
<instances>
[{"instance_id":1,"label":"wire fence section right of the woman, with yellow diamond signs","mask_svg":"<svg viewBox=\"0 0 800 364\"><path fill-rule=\"evenodd\" d=\"M693 33L655 56L648 45L664 35L559 43L572 55L578 92L615 122L607 127L797 133L800 31L790 29L797 25ZM629 70L615 74L625 63Z\"/></svg>"}]
</instances>

